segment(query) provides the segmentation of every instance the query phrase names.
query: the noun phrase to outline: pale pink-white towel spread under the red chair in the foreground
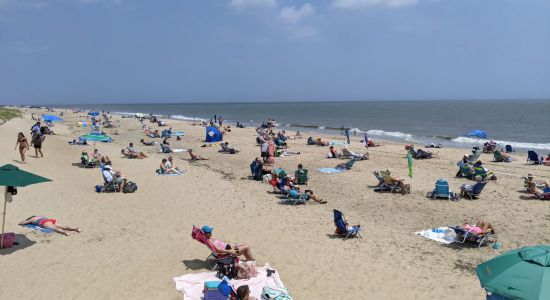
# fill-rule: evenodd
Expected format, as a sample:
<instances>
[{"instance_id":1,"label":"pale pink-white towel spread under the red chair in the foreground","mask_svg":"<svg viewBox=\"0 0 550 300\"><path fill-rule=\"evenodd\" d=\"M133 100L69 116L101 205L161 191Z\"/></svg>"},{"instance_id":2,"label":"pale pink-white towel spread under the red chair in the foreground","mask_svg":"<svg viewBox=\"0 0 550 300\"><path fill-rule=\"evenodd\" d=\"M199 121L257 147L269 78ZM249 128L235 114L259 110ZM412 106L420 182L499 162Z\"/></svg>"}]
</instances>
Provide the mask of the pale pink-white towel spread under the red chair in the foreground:
<instances>
[{"instance_id":1,"label":"pale pink-white towel spread under the red chair in the foreground","mask_svg":"<svg viewBox=\"0 0 550 300\"><path fill-rule=\"evenodd\" d=\"M248 285L250 296L262 299L262 290L265 286L272 288L284 288L283 282L279 278L279 272L270 272L267 276L267 270L275 270L269 264L264 267L256 268L257 276L246 280L232 279L231 284L235 290L241 285ZM204 272L197 274L186 274L174 278L176 289L183 294L184 300L202 300L202 290L205 281L219 281L216 272Z\"/></svg>"}]
</instances>

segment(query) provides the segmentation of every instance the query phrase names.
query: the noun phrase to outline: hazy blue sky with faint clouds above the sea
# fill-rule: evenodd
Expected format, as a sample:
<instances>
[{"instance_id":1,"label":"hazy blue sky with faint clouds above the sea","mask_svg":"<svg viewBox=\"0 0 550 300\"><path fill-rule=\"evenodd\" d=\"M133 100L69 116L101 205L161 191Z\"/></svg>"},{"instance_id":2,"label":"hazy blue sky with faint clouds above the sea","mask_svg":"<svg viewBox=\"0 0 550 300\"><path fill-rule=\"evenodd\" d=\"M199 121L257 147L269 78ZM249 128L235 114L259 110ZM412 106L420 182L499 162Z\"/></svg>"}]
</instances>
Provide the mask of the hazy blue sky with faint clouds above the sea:
<instances>
[{"instance_id":1,"label":"hazy blue sky with faint clouds above the sea","mask_svg":"<svg viewBox=\"0 0 550 300\"><path fill-rule=\"evenodd\" d=\"M0 0L0 104L550 99L550 0Z\"/></svg>"}]
</instances>

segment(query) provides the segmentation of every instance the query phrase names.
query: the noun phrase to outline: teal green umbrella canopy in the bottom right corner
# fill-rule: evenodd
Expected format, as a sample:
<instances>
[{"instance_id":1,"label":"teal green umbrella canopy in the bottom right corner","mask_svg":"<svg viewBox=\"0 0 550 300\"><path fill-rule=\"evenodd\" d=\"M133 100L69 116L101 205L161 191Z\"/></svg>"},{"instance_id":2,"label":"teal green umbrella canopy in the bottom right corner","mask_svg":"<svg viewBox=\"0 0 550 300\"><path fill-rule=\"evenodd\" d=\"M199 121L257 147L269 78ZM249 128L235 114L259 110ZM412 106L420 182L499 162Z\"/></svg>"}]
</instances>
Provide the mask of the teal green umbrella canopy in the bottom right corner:
<instances>
[{"instance_id":1,"label":"teal green umbrella canopy in the bottom right corner","mask_svg":"<svg viewBox=\"0 0 550 300\"><path fill-rule=\"evenodd\" d=\"M550 299L550 245L506 252L476 268L485 290L509 299Z\"/></svg>"}]
</instances>

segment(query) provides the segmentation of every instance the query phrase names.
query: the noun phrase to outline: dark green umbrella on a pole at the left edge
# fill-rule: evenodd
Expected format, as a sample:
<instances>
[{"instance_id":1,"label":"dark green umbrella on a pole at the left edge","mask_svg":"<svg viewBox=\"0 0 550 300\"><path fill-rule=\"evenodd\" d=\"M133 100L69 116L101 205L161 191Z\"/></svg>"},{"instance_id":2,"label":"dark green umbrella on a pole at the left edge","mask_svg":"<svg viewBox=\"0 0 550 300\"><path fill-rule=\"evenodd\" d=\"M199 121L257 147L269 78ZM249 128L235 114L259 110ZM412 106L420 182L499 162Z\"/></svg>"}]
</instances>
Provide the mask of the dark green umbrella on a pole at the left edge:
<instances>
[{"instance_id":1,"label":"dark green umbrella on a pole at the left edge","mask_svg":"<svg viewBox=\"0 0 550 300\"><path fill-rule=\"evenodd\" d=\"M16 187L27 186L35 183L51 181L48 178L38 176L23 170L14 165L4 165L0 167L0 185L5 186L4 192L4 212L2 213L2 235L0 237L0 249L4 246L4 224L6 223L7 203L12 201L12 195L17 193Z\"/></svg>"}]
</instances>

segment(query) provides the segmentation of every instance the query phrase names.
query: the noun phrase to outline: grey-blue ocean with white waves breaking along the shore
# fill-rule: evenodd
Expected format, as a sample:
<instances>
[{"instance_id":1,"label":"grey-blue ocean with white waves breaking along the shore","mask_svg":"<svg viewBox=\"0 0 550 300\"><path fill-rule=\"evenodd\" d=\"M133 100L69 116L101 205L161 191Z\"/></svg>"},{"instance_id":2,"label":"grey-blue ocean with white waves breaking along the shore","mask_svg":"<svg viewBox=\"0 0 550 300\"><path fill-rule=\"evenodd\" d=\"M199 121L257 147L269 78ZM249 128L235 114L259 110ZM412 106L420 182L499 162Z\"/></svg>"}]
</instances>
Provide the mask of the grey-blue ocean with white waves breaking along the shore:
<instances>
[{"instance_id":1,"label":"grey-blue ocean with white waves breaking along the shore","mask_svg":"<svg viewBox=\"0 0 550 300\"><path fill-rule=\"evenodd\" d=\"M550 100L283 102L203 104L56 105L109 111L147 113L172 119L209 120L222 116L229 123L257 126L268 118L279 128L340 132L341 127L367 132L371 138L418 144L470 148L484 140L464 137L475 129L488 140L518 150L550 152ZM546 153L544 153L546 154Z\"/></svg>"}]
</instances>

